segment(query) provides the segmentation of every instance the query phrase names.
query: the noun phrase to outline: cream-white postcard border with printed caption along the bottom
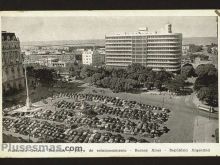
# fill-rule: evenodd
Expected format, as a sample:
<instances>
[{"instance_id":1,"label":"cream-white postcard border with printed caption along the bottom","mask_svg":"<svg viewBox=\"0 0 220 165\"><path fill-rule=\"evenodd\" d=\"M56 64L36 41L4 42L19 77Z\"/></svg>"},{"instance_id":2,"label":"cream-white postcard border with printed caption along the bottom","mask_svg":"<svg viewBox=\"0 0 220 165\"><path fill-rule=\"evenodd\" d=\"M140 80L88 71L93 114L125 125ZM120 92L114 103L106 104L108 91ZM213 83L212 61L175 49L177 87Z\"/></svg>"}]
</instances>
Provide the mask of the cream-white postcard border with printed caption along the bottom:
<instances>
[{"instance_id":1,"label":"cream-white postcard border with printed caption along the bottom","mask_svg":"<svg viewBox=\"0 0 220 165\"><path fill-rule=\"evenodd\" d=\"M219 12L220 13L220 12ZM215 10L99 10L99 11L3 11L0 12L1 17L69 17L69 16L218 16L218 24L220 22L219 16ZM1 29L1 24L0 24ZM218 26L218 37L220 27ZM1 35L0 35L1 36ZM218 38L218 50L220 39ZM1 37L0 37L1 45ZM0 49L1 54L1 49ZM218 58L219 64L220 58ZM2 61L0 60L0 64ZM1 69L0 69L1 70ZM220 77L220 73L218 73ZM2 72L0 72L2 76ZM2 81L0 79L0 81ZM220 90L218 89L218 92ZM2 87L0 87L2 93ZM0 100L2 105L2 99ZM0 113L0 143L2 143L2 113ZM15 143L16 145L35 145L39 143ZM44 145L51 145L42 143ZM55 145L57 145L56 143ZM1 145L1 144L0 144ZM63 146L82 146L84 149L127 149L128 152L3 152L0 151L0 157L148 157L148 156L219 156L220 144L219 143L141 143L141 144L107 144L107 143L64 143ZM134 149L148 149L148 152L134 152ZM210 152L191 152L191 149L210 149ZM161 152L151 152L151 149L161 149ZM188 149L189 152L169 152L169 149Z\"/></svg>"}]
</instances>

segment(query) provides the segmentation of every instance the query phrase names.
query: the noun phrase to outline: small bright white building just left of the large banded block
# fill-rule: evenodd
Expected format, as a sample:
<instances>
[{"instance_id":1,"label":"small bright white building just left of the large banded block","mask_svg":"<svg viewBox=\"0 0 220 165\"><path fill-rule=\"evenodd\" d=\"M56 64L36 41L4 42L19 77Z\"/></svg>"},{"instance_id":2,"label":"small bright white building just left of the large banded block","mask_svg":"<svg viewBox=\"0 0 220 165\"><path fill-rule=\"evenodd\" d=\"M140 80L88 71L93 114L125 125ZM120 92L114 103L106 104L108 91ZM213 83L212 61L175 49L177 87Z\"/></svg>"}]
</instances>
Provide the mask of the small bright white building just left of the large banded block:
<instances>
[{"instance_id":1,"label":"small bright white building just left of the large banded block","mask_svg":"<svg viewBox=\"0 0 220 165\"><path fill-rule=\"evenodd\" d=\"M84 65L102 65L104 63L102 54L97 50L86 50L82 53L82 64Z\"/></svg>"}]
</instances>

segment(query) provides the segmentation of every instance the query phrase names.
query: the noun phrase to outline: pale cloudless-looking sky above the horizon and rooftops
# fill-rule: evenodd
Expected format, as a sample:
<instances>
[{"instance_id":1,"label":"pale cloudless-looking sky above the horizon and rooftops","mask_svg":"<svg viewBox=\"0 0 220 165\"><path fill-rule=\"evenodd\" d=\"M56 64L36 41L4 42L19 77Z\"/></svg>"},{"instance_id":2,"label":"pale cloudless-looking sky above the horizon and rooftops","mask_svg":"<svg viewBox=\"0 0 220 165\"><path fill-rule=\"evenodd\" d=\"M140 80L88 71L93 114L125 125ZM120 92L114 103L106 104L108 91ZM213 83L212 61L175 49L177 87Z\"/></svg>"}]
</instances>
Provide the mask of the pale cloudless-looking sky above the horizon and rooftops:
<instances>
[{"instance_id":1,"label":"pale cloudless-looking sky above the horizon and rooftops","mask_svg":"<svg viewBox=\"0 0 220 165\"><path fill-rule=\"evenodd\" d=\"M2 17L2 30L15 32L20 41L104 39L111 32L149 31L166 23L183 37L216 37L216 17L78 16L78 17Z\"/></svg>"}]
</instances>

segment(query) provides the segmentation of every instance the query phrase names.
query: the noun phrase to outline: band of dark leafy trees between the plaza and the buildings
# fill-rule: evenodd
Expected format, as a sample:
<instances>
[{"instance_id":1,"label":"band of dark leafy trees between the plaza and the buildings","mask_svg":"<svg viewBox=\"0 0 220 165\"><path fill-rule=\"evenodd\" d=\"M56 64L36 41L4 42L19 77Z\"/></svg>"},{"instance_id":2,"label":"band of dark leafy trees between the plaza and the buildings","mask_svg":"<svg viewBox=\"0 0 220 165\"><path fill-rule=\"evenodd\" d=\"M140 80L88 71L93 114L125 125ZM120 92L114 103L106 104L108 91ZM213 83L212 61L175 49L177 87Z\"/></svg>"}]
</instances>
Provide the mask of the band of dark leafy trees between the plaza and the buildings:
<instances>
[{"instance_id":1,"label":"band of dark leafy trees between the plaza and the buildings","mask_svg":"<svg viewBox=\"0 0 220 165\"><path fill-rule=\"evenodd\" d=\"M54 69L28 67L27 71L28 75L46 85L52 85L58 77L54 74L56 73ZM169 90L180 95L189 94L192 91L186 88L189 85L187 79L196 77L194 90L198 98L209 105L214 106L218 103L218 73L212 64L201 64L196 69L191 64L185 64L181 72L175 74L165 70L153 71L138 64L132 64L126 69L73 64L68 71L71 76L84 79L97 87L109 88L113 92L132 92L146 88L147 90Z\"/></svg>"}]
</instances>

